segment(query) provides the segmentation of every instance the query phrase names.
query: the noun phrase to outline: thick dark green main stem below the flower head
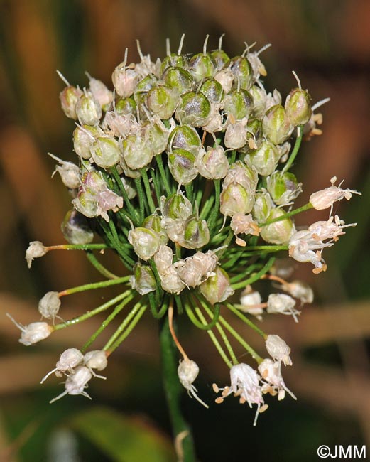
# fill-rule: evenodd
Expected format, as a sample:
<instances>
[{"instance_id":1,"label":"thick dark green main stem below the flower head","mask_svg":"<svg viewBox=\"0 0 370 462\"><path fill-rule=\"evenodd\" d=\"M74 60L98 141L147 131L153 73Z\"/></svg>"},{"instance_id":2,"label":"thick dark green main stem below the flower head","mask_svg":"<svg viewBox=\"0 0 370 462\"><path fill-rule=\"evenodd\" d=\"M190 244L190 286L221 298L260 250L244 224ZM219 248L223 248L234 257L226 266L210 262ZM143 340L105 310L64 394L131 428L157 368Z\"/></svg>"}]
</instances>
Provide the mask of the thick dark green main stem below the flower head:
<instances>
[{"instance_id":1,"label":"thick dark green main stem below the flower head","mask_svg":"<svg viewBox=\"0 0 370 462\"><path fill-rule=\"evenodd\" d=\"M178 460L195 462L192 434L180 407L180 400L185 389L178 380L178 350L173 343L167 317L163 318L160 326L160 353L162 356L163 386L170 412Z\"/></svg>"}]
</instances>

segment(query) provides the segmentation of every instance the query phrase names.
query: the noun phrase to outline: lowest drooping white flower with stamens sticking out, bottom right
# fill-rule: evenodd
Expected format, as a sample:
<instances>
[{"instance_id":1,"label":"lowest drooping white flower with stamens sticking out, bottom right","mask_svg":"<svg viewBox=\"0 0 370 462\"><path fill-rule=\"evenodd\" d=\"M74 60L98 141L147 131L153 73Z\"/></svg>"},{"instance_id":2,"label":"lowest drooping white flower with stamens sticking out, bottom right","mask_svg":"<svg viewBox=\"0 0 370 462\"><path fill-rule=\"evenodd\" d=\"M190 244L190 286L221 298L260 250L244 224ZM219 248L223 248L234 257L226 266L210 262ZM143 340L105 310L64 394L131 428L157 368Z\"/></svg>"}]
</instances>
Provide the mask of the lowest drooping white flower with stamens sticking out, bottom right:
<instances>
[{"instance_id":1,"label":"lowest drooping white flower with stamens sticking out, bottom right","mask_svg":"<svg viewBox=\"0 0 370 462\"><path fill-rule=\"evenodd\" d=\"M243 362L234 365L230 369L230 387L219 388L217 385L213 385L215 392L222 390L221 397L216 399L217 404L222 403L224 398L232 393L234 393L234 396L239 396L239 402L241 404L247 402L249 407L252 407L252 404L257 404L256 417L254 418L253 423L255 426L259 413L266 411L268 408L267 404L264 404L263 401L262 390L259 385L260 378L259 374L252 369L251 366L244 364Z\"/></svg>"}]
</instances>

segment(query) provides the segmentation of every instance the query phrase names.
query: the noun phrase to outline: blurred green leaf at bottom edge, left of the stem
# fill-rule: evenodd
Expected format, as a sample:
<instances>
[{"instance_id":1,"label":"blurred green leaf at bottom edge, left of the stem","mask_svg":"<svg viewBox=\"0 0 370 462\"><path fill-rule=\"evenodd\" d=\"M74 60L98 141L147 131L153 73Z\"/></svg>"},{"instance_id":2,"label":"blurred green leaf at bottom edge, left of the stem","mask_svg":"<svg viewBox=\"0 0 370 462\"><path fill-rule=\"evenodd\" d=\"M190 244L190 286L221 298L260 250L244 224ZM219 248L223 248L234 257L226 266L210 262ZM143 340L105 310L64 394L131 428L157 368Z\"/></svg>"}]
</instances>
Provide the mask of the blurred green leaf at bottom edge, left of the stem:
<instances>
[{"instance_id":1,"label":"blurred green leaf at bottom edge, left of the stem","mask_svg":"<svg viewBox=\"0 0 370 462\"><path fill-rule=\"evenodd\" d=\"M173 462L170 441L148 422L125 417L104 407L75 414L69 422L113 461Z\"/></svg>"}]
</instances>

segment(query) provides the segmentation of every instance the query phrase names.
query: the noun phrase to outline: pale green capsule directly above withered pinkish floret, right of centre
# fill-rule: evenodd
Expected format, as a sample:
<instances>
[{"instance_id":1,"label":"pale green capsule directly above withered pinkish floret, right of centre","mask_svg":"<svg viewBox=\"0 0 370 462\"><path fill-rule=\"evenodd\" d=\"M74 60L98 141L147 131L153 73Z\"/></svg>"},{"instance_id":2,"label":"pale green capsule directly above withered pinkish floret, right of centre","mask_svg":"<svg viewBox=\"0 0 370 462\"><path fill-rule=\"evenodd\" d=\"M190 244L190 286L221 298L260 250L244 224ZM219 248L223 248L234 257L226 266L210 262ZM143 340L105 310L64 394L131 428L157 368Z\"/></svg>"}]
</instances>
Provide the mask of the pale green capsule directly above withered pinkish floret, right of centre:
<instances>
[{"instance_id":1,"label":"pale green capsule directly above withered pinkish floret, right of centre","mask_svg":"<svg viewBox=\"0 0 370 462\"><path fill-rule=\"evenodd\" d=\"M251 212L253 204L254 194L248 193L239 183L229 183L220 195L219 211L228 217L239 213L246 215Z\"/></svg>"}]
</instances>

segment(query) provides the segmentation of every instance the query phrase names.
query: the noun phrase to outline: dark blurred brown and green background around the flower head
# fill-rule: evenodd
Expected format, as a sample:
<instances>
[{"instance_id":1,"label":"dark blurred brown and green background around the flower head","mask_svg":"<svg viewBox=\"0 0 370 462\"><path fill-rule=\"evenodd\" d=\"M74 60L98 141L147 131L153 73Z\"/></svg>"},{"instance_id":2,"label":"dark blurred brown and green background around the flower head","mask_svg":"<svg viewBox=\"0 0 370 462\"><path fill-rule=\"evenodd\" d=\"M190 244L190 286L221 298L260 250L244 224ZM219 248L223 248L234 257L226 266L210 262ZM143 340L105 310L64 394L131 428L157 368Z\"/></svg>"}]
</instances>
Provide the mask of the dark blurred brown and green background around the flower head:
<instances>
[{"instance_id":1,"label":"dark blurred brown and green background around the flower head","mask_svg":"<svg viewBox=\"0 0 370 462\"><path fill-rule=\"evenodd\" d=\"M92 382L92 402L67 397L49 405L62 388L56 378L40 386L40 377L54 367L62 350L81 346L99 319L25 348L18 344L19 332L5 313L24 324L38 321L38 299L46 291L101 279L79 252L50 252L34 262L31 271L24 259L32 240L45 245L64 242L60 222L70 208L59 178L50 178L55 162L46 155L49 151L74 159L74 124L60 109L63 83L55 70L73 85L87 85L87 71L111 87L111 72L123 60L126 47L129 60L138 60L136 38L143 53L154 60L165 56L167 37L177 50L182 33L185 53L199 53L206 34L210 34L208 48L214 49L225 33L224 49L231 56L242 53L244 42L256 42L259 48L271 43L262 56L268 70L266 88L277 87L285 97L295 86L291 73L295 70L314 102L331 98L321 110L323 135L303 145L295 165L304 188L298 205L307 202L313 191L329 186L334 175L345 178L344 187L363 193L336 207L346 222L358 225L325 252L328 271L315 276L310 264L297 265L298 275L316 294L313 306L303 309L300 323L285 317L263 322L265 331L278 333L292 347L293 367L285 369L284 376L298 402L290 397L283 402L270 400L268 412L254 428L254 412L239 406L236 399L213 404L208 411L194 399L184 399L198 457L203 462L310 462L317 460L321 444L332 448L367 444L370 451L369 0L3 0L1 461L139 461L135 448L131 458L121 459L107 449L102 415L109 412L120 419L121 439L126 431L119 425L137 429L128 444L135 446L136 437L141 441L144 430L164 446L170 441L153 319L147 316L109 359L104 371L107 380ZM327 212L310 212L298 217L297 223L308 225L326 216ZM120 272L117 262L109 264ZM63 299L62 316L92 309L109 295L95 291ZM205 333L185 326L180 335L201 368L200 396L212 402L212 382L226 382L228 372ZM98 342L102 344L103 340ZM256 343L256 348L263 345ZM94 410L97 414L90 415ZM113 439L109 444L112 448L118 442ZM153 456L151 460L173 459Z\"/></svg>"}]
</instances>

